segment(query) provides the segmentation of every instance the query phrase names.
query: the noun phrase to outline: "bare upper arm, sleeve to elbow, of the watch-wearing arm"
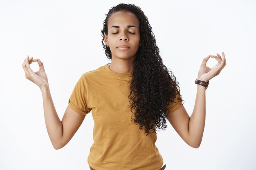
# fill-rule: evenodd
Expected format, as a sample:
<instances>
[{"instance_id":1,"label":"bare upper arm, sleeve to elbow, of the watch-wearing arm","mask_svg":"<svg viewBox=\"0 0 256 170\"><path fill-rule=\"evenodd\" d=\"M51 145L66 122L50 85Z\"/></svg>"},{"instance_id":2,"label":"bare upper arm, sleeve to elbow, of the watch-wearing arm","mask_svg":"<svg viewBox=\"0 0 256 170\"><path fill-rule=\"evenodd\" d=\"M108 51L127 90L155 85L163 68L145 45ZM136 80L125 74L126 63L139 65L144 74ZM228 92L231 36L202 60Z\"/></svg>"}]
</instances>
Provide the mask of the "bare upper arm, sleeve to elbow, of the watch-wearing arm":
<instances>
[{"instance_id":1,"label":"bare upper arm, sleeve to elbow, of the watch-wearing arm","mask_svg":"<svg viewBox=\"0 0 256 170\"><path fill-rule=\"evenodd\" d=\"M180 108L172 113L168 114L167 117L170 124L180 135L180 137L190 146L189 144L189 114L182 105Z\"/></svg>"}]
</instances>

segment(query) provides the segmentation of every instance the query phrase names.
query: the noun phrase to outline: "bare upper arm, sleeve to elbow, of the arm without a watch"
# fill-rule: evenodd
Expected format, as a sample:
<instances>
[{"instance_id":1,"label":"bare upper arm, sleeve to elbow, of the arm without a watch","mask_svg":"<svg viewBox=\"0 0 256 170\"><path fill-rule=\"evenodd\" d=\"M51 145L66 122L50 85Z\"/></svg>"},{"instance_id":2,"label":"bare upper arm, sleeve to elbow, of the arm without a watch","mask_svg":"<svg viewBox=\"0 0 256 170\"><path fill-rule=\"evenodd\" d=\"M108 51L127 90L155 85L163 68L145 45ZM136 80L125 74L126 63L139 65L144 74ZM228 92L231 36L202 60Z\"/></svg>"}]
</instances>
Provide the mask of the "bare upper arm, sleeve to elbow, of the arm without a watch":
<instances>
[{"instance_id":1,"label":"bare upper arm, sleeve to elbow, of the arm without a watch","mask_svg":"<svg viewBox=\"0 0 256 170\"><path fill-rule=\"evenodd\" d=\"M72 139L83 123L84 118L85 115L81 115L74 111L70 106L67 106L61 121L63 126L63 135L58 149L63 148Z\"/></svg>"}]
</instances>

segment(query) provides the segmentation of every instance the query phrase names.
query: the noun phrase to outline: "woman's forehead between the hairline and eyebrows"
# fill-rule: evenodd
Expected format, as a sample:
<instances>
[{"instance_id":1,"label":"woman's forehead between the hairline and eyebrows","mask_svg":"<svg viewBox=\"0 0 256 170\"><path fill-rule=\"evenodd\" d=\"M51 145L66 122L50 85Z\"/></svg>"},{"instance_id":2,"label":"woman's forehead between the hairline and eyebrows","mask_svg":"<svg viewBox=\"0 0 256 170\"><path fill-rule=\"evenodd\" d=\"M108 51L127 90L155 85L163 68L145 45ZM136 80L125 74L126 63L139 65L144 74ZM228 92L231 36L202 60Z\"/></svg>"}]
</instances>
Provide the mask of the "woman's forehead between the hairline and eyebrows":
<instances>
[{"instance_id":1,"label":"woman's forehead between the hairline and eyebrows","mask_svg":"<svg viewBox=\"0 0 256 170\"><path fill-rule=\"evenodd\" d=\"M134 25L138 28L139 20L137 16L129 11L117 11L112 13L108 18L108 27L110 28L113 25L124 26Z\"/></svg>"}]
</instances>

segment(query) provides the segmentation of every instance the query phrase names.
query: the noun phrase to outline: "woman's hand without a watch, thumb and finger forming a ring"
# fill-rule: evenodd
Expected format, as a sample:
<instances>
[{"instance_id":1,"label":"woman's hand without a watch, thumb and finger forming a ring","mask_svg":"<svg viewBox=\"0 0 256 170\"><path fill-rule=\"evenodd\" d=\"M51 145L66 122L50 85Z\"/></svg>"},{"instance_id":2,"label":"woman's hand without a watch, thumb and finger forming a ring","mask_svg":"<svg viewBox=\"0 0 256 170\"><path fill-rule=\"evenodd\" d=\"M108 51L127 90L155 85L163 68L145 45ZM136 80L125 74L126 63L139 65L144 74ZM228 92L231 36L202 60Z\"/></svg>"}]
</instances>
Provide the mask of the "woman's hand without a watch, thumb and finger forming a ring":
<instances>
[{"instance_id":1,"label":"woman's hand without a watch, thumb and finger forming a ring","mask_svg":"<svg viewBox=\"0 0 256 170\"><path fill-rule=\"evenodd\" d=\"M32 59L33 59L33 57L29 58L29 55L28 55L22 64L22 67L26 74L26 76L25 76L26 79L29 79L31 82L36 84L38 87L40 87L40 89L49 86L43 63L41 62L40 59L34 59L34 60L32 60ZM39 71L34 72L31 70L29 64L36 62L36 61L39 65Z\"/></svg>"}]
</instances>

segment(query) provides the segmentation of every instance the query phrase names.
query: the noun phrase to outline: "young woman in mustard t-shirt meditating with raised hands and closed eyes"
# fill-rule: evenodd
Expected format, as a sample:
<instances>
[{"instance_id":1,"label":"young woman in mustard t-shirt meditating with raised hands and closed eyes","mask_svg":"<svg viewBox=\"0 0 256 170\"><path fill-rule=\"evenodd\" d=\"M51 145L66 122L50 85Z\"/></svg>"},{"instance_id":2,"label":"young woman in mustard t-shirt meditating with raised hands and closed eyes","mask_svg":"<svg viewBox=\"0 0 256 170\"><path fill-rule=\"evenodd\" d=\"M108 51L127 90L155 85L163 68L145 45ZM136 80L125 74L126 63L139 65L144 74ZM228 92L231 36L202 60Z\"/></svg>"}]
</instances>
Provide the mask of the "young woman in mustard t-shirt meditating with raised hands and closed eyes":
<instances>
[{"instance_id":1,"label":"young woman in mustard t-shirt meditating with raised hands and closed eyes","mask_svg":"<svg viewBox=\"0 0 256 170\"><path fill-rule=\"evenodd\" d=\"M148 18L134 4L112 7L103 22L102 44L111 63L84 73L77 82L60 121L40 59L27 56L26 78L40 87L47 132L55 149L64 147L92 111L93 140L88 156L91 170L164 170L155 146L156 129L166 119L191 147L198 148L205 123L205 90L209 80L226 65L225 54L202 61L191 117L186 112L179 83L164 66ZM206 66L210 57L218 64ZM38 62L39 71L29 67ZM162 168L161 168L162 167Z\"/></svg>"}]
</instances>

